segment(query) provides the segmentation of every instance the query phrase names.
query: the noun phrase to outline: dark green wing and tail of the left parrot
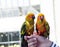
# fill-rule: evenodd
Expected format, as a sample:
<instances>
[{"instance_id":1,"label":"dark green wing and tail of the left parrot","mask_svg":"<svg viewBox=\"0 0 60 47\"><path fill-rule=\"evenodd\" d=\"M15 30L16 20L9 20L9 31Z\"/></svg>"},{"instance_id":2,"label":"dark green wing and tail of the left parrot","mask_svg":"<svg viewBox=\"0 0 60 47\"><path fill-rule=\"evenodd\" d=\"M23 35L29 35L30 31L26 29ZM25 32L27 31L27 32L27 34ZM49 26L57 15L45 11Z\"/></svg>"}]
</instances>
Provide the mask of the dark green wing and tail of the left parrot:
<instances>
[{"instance_id":1,"label":"dark green wing and tail of the left parrot","mask_svg":"<svg viewBox=\"0 0 60 47\"><path fill-rule=\"evenodd\" d=\"M27 41L24 39L24 36L26 35L26 24L25 24L25 22L22 25L20 33L21 33L21 47L28 47Z\"/></svg>"}]
</instances>

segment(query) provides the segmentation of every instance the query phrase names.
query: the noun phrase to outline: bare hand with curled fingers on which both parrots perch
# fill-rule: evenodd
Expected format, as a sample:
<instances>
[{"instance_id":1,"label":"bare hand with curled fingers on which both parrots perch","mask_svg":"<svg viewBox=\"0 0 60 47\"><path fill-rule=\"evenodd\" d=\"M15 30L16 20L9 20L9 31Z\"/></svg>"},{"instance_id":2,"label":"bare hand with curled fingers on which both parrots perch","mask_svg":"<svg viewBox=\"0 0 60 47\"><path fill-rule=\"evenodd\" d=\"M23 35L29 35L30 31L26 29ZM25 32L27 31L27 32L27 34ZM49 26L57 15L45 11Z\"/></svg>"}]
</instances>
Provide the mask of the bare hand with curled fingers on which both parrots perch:
<instances>
[{"instance_id":1,"label":"bare hand with curled fingers on which both parrots perch","mask_svg":"<svg viewBox=\"0 0 60 47\"><path fill-rule=\"evenodd\" d=\"M24 38L28 42L28 47L50 47L52 43L50 40L36 34Z\"/></svg>"}]
</instances>

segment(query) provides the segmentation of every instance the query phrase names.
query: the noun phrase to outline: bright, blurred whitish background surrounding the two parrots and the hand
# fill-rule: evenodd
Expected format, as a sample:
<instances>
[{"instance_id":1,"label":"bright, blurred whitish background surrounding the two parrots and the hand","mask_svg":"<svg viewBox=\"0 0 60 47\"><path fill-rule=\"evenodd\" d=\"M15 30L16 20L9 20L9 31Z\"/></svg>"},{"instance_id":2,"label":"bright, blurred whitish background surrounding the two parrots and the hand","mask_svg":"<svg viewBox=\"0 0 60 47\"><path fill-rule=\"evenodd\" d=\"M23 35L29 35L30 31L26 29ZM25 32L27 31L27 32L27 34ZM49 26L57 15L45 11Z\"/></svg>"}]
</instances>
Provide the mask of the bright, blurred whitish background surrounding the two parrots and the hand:
<instances>
[{"instance_id":1,"label":"bright, blurred whitish background surrounding the two parrots and the hand","mask_svg":"<svg viewBox=\"0 0 60 47\"><path fill-rule=\"evenodd\" d=\"M59 0L0 0L0 47L20 47L20 29L28 12L43 13L49 39L60 46ZM35 19L36 22L36 19Z\"/></svg>"}]
</instances>

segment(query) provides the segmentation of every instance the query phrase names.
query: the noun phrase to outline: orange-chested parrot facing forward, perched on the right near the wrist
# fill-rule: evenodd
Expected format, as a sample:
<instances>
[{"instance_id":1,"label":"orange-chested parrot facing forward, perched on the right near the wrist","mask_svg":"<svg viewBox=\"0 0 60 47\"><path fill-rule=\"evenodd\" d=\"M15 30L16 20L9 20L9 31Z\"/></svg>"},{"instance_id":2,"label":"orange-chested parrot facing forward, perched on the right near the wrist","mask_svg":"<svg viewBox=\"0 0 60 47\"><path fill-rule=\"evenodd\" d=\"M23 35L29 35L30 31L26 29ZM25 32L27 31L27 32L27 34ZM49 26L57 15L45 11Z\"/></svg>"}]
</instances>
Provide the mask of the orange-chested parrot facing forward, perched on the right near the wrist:
<instances>
[{"instance_id":1,"label":"orange-chested parrot facing forward, perched on the right near the wrist","mask_svg":"<svg viewBox=\"0 0 60 47\"><path fill-rule=\"evenodd\" d=\"M39 13L36 21L36 32L39 36L49 39L50 26L43 13Z\"/></svg>"}]
</instances>

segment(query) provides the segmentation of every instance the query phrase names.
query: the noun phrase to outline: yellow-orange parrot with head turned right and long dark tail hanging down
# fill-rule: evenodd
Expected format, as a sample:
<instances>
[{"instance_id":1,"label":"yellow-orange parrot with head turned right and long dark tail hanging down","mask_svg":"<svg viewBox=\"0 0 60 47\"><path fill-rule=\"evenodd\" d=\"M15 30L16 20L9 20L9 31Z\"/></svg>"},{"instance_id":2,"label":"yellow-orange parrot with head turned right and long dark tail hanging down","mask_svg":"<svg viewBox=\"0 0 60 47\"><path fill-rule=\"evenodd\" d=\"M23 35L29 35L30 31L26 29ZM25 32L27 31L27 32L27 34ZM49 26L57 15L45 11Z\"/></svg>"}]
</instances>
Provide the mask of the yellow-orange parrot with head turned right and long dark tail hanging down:
<instances>
[{"instance_id":1,"label":"yellow-orange parrot with head turned right and long dark tail hanging down","mask_svg":"<svg viewBox=\"0 0 60 47\"><path fill-rule=\"evenodd\" d=\"M27 41L24 39L24 36L30 36L34 32L34 19L35 15L33 13L28 13L25 18L25 22L21 27L21 47L28 47Z\"/></svg>"}]
</instances>

